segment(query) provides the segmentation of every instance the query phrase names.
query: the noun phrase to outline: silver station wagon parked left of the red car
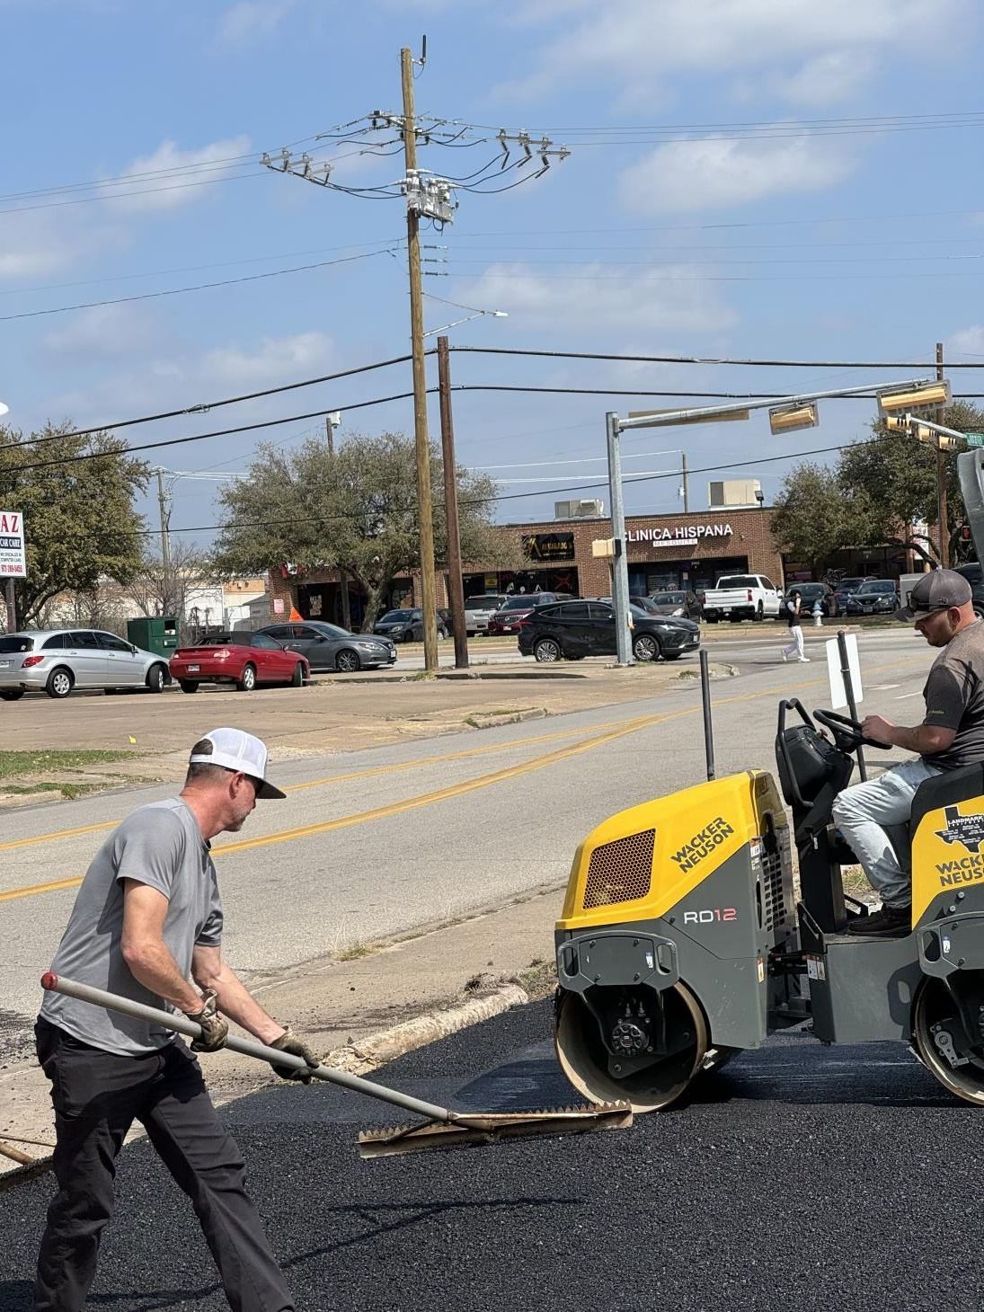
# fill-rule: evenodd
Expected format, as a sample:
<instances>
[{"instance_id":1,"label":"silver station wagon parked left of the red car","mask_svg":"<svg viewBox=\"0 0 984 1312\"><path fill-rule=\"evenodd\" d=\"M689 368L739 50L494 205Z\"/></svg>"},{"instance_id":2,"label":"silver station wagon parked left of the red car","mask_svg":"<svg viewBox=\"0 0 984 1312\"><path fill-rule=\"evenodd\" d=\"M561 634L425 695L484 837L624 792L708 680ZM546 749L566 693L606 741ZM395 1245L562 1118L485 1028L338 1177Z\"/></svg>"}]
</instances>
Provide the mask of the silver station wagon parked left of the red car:
<instances>
[{"instance_id":1,"label":"silver station wagon parked left of the red car","mask_svg":"<svg viewBox=\"0 0 984 1312\"><path fill-rule=\"evenodd\" d=\"M146 687L163 693L171 682L163 656L134 647L101 628L45 628L0 634L0 701L25 693L68 697L72 689Z\"/></svg>"}]
</instances>

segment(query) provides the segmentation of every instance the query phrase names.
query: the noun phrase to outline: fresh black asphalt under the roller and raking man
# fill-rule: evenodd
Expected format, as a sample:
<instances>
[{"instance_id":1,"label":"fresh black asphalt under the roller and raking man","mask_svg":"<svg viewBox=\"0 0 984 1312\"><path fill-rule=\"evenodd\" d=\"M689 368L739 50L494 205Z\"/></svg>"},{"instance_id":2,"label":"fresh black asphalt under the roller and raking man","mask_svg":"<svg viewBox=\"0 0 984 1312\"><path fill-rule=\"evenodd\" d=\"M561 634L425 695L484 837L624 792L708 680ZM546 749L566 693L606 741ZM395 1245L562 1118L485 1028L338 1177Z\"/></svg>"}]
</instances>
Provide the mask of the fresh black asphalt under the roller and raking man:
<instances>
[{"instance_id":1,"label":"fresh black asphalt under the roller and raking man","mask_svg":"<svg viewBox=\"0 0 984 1312\"><path fill-rule=\"evenodd\" d=\"M378 1078L437 1102L563 1105L550 1009ZM970 1312L984 1302L983 1113L901 1044L773 1040L627 1131L359 1161L394 1118L327 1085L228 1106L299 1312ZM395 1119L400 1119L399 1115ZM28 1312L51 1177L0 1194L0 1309ZM185 1199L127 1148L92 1309L226 1308Z\"/></svg>"}]
</instances>

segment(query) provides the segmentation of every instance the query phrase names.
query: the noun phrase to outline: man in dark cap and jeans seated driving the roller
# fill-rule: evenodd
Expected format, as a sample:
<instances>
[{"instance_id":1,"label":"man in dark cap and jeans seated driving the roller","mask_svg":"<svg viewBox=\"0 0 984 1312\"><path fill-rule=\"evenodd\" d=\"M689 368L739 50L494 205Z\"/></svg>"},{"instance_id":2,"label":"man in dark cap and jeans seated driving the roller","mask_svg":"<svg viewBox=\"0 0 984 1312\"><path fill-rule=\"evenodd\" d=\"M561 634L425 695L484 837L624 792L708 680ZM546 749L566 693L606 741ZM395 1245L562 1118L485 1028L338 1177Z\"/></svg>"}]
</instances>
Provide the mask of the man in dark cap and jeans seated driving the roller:
<instances>
[{"instance_id":1,"label":"man in dark cap and jeans seated driving the roller","mask_svg":"<svg viewBox=\"0 0 984 1312\"><path fill-rule=\"evenodd\" d=\"M984 761L984 623L972 604L971 585L953 569L924 575L896 611L912 619L930 647L941 648L922 695L926 714L907 728L880 715L865 718L865 736L918 753L869 783L845 789L834 800L833 821L857 853L865 874L882 895L882 909L853 920L855 934L896 938L912 928L912 870L903 828L924 779ZM896 830L897 846L891 832Z\"/></svg>"}]
</instances>

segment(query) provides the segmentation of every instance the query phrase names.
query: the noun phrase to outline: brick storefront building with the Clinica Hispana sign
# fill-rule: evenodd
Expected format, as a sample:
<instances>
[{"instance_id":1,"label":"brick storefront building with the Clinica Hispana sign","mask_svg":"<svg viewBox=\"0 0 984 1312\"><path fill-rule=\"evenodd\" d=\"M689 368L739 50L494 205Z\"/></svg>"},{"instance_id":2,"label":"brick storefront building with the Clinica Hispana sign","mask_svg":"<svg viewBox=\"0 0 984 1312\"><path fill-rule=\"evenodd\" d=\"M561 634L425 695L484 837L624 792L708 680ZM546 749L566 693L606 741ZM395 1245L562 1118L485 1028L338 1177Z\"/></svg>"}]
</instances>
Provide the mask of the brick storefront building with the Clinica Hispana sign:
<instances>
[{"instance_id":1,"label":"brick storefront building with the Clinica Hispana sign","mask_svg":"<svg viewBox=\"0 0 984 1312\"><path fill-rule=\"evenodd\" d=\"M722 573L764 573L783 585L782 556L770 533L770 510L699 510L690 514L630 516L626 520L630 592L664 588L712 588ZM604 597L610 592L609 562L592 555L597 538L611 537L609 518L550 520L506 523L500 530L512 543L520 538L529 565L520 571L485 567L480 560L463 568L464 593L568 592L580 597ZM437 605L447 605L447 579L437 573ZM361 617L359 598L349 589L353 626ZM270 575L273 617L297 606L304 618L341 619L337 571L287 576ZM399 579L391 605L420 605L420 577Z\"/></svg>"}]
</instances>

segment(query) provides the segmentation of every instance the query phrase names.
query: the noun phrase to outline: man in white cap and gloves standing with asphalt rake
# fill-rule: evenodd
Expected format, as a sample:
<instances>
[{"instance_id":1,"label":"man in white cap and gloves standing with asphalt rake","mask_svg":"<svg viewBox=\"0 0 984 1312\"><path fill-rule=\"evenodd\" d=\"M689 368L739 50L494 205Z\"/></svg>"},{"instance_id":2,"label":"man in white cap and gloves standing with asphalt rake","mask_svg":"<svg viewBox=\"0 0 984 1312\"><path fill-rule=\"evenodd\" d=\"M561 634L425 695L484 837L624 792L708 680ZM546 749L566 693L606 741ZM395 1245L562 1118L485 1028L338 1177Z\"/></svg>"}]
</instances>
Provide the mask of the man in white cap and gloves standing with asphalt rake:
<instances>
[{"instance_id":1,"label":"man in white cap and gloves standing with asphalt rake","mask_svg":"<svg viewBox=\"0 0 984 1312\"><path fill-rule=\"evenodd\" d=\"M222 903L209 840L241 829L258 798L282 796L266 779L260 739L231 728L207 733L192 748L181 795L134 811L96 854L52 970L184 1012L202 1029L192 1044L199 1052L224 1044L224 1013L262 1043L318 1065L222 959ZM55 1105L58 1178L38 1258L37 1312L85 1305L113 1215L115 1157L134 1120L190 1198L230 1307L293 1312L245 1193L243 1158L215 1114L194 1054L168 1030L59 993L46 994L35 1035ZM283 1078L307 1075L273 1069Z\"/></svg>"}]
</instances>

